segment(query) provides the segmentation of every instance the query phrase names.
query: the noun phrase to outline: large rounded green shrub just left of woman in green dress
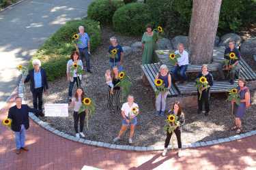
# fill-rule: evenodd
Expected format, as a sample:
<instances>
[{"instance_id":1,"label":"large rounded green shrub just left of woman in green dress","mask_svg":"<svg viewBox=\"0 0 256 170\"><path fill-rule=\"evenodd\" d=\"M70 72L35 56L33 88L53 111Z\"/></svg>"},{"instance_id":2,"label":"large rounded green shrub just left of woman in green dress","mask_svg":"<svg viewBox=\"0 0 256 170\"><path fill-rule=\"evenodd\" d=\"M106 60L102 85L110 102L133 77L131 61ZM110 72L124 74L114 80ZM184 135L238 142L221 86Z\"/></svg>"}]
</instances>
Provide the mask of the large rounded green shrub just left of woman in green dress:
<instances>
[{"instance_id":1,"label":"large rounded green shrub just left of woman in green dress","mask_svg":"<svg viewBox=\"0 0 256 170\"><path fill-rule=\"evenodd\" d=\"M128 3L120 7L113 16L113 27L119 33L141 35L150 19L150 12L144 3Z\"/></svg>"}]
</instances>

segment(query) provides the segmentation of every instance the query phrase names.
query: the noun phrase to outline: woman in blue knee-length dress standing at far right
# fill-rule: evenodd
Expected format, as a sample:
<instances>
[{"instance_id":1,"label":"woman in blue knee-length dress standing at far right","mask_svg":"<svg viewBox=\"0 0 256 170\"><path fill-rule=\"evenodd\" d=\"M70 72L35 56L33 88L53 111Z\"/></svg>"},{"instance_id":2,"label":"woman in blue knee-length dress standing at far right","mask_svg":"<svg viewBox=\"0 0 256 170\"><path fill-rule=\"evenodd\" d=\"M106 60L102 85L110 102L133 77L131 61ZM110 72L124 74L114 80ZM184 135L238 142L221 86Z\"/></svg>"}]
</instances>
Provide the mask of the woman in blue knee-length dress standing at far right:
<instances>
[{"instance_id":1,"label":"woman in blue knee-length dress standing at far right","mask_svg":"<svg viewBox=\"0 0 256 170\"><path fill-rule=\"evenodd\" d=\"M246 112L246 108L250 107L250 90L246 87L246 81L242 78L238 80L238 93L240 96L240 105L237 105L235 101L231 101L233 105L233 114L235 114L235 126L231 130L236 130L236 133L242 132L242 121L241 118Z\"/></svg>"}]
</instances>

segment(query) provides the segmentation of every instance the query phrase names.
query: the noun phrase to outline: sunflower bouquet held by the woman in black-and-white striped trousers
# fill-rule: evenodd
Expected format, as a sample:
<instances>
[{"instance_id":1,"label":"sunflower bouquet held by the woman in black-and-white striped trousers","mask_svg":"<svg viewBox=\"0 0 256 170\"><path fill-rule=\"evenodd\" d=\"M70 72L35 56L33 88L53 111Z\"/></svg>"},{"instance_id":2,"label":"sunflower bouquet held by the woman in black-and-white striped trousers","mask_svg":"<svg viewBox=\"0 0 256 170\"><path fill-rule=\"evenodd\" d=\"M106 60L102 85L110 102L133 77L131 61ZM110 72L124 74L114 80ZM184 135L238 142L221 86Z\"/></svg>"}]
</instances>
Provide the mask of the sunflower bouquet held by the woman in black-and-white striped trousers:
<instances>
[{"instance_id":1,"label":"sunflower bouquet held by the woman in black-and-white striped trousers","mask_svg":"<svg viewBox=\"0 0 256 170\"><path fill-rule=\"evenodd\" d=\"M118 74L118 77L120 82L117 83L115 86L119 86L122 88L122 100L124 100L130 92L130 86L132 86L132 82L130 82L130 78L128 77L128 75L126 75L125 71L121 71Z\"/></svg>"}]
</instances>

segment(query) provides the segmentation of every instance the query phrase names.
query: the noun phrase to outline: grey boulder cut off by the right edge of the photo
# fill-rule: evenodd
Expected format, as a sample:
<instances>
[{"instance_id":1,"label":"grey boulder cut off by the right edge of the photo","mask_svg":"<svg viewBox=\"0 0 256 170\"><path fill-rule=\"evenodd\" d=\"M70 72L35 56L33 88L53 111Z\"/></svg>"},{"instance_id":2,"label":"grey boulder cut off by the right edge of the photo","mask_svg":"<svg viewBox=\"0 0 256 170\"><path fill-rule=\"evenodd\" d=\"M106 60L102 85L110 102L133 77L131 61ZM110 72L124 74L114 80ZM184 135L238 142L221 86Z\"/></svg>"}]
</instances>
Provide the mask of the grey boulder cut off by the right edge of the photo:
<instances>
[{"instance_id":1,"label":"grey boulder cut off by the right edge of the photo","mask_svg":"<svg viewBox=\"0 0 256 170\"><path fill-rule=\"evenodd\" d=\"M252 37L244 41L240 50L242 56L253 56L256 54L256 37Z\"/></svg>"}]
</instances>

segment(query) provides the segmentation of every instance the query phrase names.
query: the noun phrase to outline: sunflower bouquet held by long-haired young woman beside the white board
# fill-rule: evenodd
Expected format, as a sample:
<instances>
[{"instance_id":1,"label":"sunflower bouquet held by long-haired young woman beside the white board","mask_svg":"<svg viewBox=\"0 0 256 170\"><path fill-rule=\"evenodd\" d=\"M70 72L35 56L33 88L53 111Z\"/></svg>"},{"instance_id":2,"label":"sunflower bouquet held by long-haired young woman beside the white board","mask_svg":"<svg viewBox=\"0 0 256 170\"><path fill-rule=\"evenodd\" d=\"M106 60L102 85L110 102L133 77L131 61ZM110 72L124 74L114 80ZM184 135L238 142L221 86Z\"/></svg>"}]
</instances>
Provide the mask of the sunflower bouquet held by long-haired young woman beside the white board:
<instances>
[{"instance_id":1,"label":"sunflower bouquet held by long-haired young woman beside the white board","mask_svg":"<svg viewBox=\"0 0 256 170\"><path fill-rule=\"evenodd\" d=\"M87 126L87 129L89 129L89 118L94 116L94 113L95 113L94 101L92 101L88 97L85 97L82 100L81 107L79 108L79 114L81 114L82 112L85 112L86 114L86 126Z\"/></svg>"}]
</instances>

